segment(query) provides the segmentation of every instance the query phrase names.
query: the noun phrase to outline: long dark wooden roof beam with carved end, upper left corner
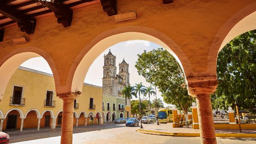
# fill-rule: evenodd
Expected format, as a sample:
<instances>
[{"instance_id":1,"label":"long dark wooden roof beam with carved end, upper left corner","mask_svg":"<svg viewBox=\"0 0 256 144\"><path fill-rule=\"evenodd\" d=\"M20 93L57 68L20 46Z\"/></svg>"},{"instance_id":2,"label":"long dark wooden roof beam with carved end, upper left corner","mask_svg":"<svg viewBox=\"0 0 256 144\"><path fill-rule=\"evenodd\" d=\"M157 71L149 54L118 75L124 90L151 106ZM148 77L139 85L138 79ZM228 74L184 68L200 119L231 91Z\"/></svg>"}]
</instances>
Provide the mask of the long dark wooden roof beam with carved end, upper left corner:
<instances>
[{"instance_id":1,"label":"long dark wooden roof beam with carved end, upper left corner","mask_svg":"<svg viewBox=\"0 0 256 144\"><path fill-rule=\"evenodd\" d=\"M6 2L0 1L0 13L18 23L21 32L32 34L35 30L35 20L9 6Z\"/></svg>"}]
</instances>

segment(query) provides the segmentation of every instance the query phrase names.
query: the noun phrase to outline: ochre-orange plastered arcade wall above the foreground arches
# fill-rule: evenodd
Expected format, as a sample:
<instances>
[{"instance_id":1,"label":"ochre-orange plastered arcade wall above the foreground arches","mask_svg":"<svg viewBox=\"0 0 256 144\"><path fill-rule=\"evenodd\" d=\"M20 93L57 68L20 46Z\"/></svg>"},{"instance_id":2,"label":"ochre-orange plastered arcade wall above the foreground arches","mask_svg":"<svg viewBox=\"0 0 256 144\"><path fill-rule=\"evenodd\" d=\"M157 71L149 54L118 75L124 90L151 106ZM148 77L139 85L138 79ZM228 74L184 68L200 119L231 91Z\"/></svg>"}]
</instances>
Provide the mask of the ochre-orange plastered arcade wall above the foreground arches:
<instances>
[{"instance_id":1,"label":"ochre-orange plastered arcade wall above the foreground arches","mask_svg":"<svg viewBox=\"0 0 256 144\"><path fill-rule=\"evenodd\" d=\"M113 17L108 17L100 3L97 3L87 8L75 9L69 28L58 24L52 14L37 19L35 32L29 35L27 43L12 44L11 39L24 36L17 24L4 28L4 40L0 43L0 65L19 52L33 51L40 55L40 50L28 48L36 47L46 53L44 57L55 75L58 75L58 78L55 77L56 91L68 92L72 87L76 66L94 44L113 35L116 28L142 26L148 28L144 30L145 33L155 35L177 54L187 77L216 75L215 63L219 47L215 48L214 55L208 55L211 47L220 46L229 30L241 18L256 11L254 2L255 0L226 0L225 3L177 0L173 4L163 5L162 0L118 0L122 12L136 11L137 19L114 22ZM245 10L239 13L242 9ZM232 20L226 24L229 19ZM136 29L126 31L140 31L139 27ZM109 30L111 32L107 32ZM160 34L156 34L157 32ZM218 32L221 34L215 37ZM217 42L213 43L215 39ZM90 64L84 69L89 67Z\"/></svg>"}]
</instances>

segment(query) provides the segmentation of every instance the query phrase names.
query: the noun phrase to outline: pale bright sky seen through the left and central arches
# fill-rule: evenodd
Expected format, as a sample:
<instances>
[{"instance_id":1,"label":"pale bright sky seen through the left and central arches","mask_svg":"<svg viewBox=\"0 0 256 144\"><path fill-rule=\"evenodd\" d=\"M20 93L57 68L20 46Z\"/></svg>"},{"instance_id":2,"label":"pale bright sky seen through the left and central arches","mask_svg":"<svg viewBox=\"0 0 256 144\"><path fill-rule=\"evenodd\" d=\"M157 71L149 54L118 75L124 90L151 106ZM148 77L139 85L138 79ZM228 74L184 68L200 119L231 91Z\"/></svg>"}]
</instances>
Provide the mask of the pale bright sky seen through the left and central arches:
<instances>
[{"instance_id":1,"label":"pale bright sky seen through the left and central arches","mask_svg":"<svg viewBox=\"0 0 256 144\"><path fill-rule=\"evenodd\" d=\"M121 63L123 59L125 59L126 63L129 64L131 86L134 86L135 84L138 84L140 82L142 82L144 86L150 86L150 84L145 81L145 78L143 78L143 76L138 74L137 69L135 68L135 63L138 59L137 54L143 53L144 50L151 51L152 49L157 49L160 47L161 46L157 45L156 43L151 43L145 40L130 40L130 41L117 43L109 47L108 49L106 49L104 52L102 52L101 55L98 56L98 58L94 60L93 64L90 66L87 72L84 82L88 84L93 84L96 86L102 86L102 78L103 78L102 66L104 65L104 55L107 55L109 49L111 49L112 54L116 56L116 67L117 67L116 73L119 72L118 64ZM24 66L30 69L36 69L42 72L47 72L52 74L52 71L47 61L44 60L44 58L42 57L29 59L24 63L22 63L20 66ZM163 98L160 96L160 92L158 91L158 89L157 89L157 98L161 98L163 101ZM133 98L133 99L136 99L136 98ZM151 98L151 101L152 100L153 98ZM167 107L169 106L169 104L164 103L164 106Z\"/></svg>"}]
</instances>

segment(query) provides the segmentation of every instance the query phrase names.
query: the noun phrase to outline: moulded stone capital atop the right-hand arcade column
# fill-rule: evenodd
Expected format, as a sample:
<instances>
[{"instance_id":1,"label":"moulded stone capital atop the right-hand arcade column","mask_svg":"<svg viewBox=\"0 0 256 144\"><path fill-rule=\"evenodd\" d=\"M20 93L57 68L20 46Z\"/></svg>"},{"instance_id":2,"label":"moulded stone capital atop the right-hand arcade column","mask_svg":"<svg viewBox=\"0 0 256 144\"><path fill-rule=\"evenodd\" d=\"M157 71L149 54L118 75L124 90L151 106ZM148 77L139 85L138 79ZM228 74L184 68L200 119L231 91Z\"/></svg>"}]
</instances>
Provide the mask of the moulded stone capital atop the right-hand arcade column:
<instances>
[{"instance_id":1,"label":"moulded stone capital atop the right-hand arcade column","mask_svg":"<svg viewBox=\"0 0 256 144\"><path fill-rule=\"evenodd\" d=\"M210 95L216 91L218 86L217 76L188 77L188 93L192 97L197 95Z\"/></svg>"}]
</instances>

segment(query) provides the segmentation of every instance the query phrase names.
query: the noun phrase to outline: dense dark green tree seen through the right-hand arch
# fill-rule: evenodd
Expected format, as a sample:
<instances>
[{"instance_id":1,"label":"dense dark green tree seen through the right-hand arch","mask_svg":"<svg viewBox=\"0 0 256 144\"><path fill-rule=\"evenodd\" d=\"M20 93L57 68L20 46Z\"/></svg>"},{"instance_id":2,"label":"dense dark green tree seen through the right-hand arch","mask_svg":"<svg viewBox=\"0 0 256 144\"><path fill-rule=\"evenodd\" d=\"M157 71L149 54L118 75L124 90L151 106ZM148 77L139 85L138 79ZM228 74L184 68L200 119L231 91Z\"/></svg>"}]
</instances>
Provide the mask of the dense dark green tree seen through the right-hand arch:
<instances>
[{"instance_id":1,"label":"dense dark green tree seen through the right-hand arch","mask_svg":"<svg viewBox=\"0 0 256 144\"><path fill-rule=\"evenodd\" d=\"M241 109L256 107L256 30L246 32L230 41L218 54L218 88L213 106Z\"/></svg>"}]
</instances>

